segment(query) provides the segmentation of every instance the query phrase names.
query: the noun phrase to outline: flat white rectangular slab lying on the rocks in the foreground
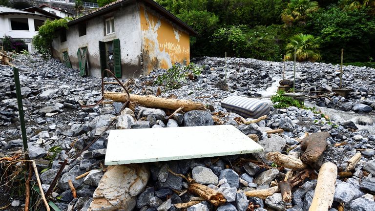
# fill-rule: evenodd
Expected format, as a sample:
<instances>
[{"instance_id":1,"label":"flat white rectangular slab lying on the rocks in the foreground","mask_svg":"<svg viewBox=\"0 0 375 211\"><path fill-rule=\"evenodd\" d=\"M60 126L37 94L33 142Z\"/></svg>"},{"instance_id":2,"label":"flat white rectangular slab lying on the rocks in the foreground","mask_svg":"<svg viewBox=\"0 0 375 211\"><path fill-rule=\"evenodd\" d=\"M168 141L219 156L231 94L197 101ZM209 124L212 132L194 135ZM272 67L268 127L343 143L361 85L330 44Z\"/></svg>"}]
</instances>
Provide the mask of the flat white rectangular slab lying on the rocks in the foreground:
<instances>
[{"instance_id":1,"label":"flat white rectangular slab lying on the rocks in the foreground","mask_svg":"<svg viewBox=\"0 0 375 211\"><path fill-rule=\"evenodd\" d=\"M263 148L232 125L111 130L105 165L247 154Z\"/></svg>"}]
</instances>

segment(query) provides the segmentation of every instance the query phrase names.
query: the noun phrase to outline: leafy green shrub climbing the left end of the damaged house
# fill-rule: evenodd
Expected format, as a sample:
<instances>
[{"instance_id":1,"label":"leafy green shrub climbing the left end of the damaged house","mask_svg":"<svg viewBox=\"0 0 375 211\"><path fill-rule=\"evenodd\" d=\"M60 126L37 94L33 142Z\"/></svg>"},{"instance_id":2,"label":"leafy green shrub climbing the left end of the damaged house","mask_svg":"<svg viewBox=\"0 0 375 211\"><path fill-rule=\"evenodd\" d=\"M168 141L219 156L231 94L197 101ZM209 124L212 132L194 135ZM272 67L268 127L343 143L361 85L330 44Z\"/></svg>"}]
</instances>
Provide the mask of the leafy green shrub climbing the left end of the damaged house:
<instances>
[{"instance_id":1,"label":"leafy green shrub climbing the left end of the damaged house","mask_svg":"<svg viewBox=\"0 0 375 211\"><path fill-rule=\"evenodd\" d=\"M68 19L50 21L47 19L39 32L33 37L33 45L43 57L48 58L51 55L51 43L57 37L56 30L59 28L68 28Z\"/></svg>"}]
</instances>

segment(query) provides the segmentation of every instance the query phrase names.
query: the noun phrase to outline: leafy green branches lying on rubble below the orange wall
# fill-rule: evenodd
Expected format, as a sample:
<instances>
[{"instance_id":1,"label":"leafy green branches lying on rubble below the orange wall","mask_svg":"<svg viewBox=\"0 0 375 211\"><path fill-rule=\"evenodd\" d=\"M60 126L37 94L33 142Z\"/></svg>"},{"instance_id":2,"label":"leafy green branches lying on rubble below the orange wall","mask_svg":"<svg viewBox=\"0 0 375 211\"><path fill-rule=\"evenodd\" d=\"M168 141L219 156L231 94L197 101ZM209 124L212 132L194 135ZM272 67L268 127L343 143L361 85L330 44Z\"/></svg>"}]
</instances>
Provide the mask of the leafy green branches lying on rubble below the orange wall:
<instances>
[{"instance_id":1,"label":"leafy green branches lying on rubble below the orange wall","mask_svg":"<svg viewBox=\"0 0 375 211\"><path fill-rule=\"evenodd\" d=\"M182 84L187 82L187 76L189 74L195 79L201 75L201 71L202 69L194 63L190 63L187 66L174 64L166 73L157 77L155 84L164 85L166 90L180 88Z\"/></svg>"}]
</instances>

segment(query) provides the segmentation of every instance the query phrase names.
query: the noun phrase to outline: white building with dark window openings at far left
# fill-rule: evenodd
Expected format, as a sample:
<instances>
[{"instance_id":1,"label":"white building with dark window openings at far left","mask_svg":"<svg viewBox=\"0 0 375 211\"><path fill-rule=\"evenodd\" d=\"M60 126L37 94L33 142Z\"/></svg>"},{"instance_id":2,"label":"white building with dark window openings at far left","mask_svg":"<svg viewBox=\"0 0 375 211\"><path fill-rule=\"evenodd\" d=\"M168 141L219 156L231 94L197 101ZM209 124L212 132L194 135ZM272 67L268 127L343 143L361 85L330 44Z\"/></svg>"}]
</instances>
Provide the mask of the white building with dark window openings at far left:
<instances>
[{"instance_id":1,"label":"white building with dark window openings at far left","mask_svg":"<svg viewBox=\"0 0 375 211\"><path fill-rule=\"evenodd\" d=\"M55 16L46 16L23 10L0 6L0 39L10 36L21 39L27 44L28 51L34 53L31 40L38 33L38 28L47 18L54 20Z\"/></svg>"}]
</instances>

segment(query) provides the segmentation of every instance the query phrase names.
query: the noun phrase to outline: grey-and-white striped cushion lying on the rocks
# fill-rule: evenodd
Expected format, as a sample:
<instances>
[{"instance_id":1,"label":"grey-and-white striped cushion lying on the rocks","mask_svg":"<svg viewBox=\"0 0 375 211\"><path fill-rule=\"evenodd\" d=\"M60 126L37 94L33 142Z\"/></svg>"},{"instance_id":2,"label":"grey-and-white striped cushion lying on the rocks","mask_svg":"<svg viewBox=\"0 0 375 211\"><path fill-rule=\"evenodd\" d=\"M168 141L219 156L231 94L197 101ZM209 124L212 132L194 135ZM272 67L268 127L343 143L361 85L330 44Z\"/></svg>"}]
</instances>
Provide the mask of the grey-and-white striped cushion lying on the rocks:
<instances>
[{"instance_id":1,"label":"grey-and-white striped cushion lying on the rocks","mask_svg":"<svg viewBox=\"0 0 375 211\"><path fill-rule=\"evenodd\" d=\"M258 118L270 114L270 105L266 101L235 95L224 99L221 106L244 118Z\"/></svg>"}]
</instances>

